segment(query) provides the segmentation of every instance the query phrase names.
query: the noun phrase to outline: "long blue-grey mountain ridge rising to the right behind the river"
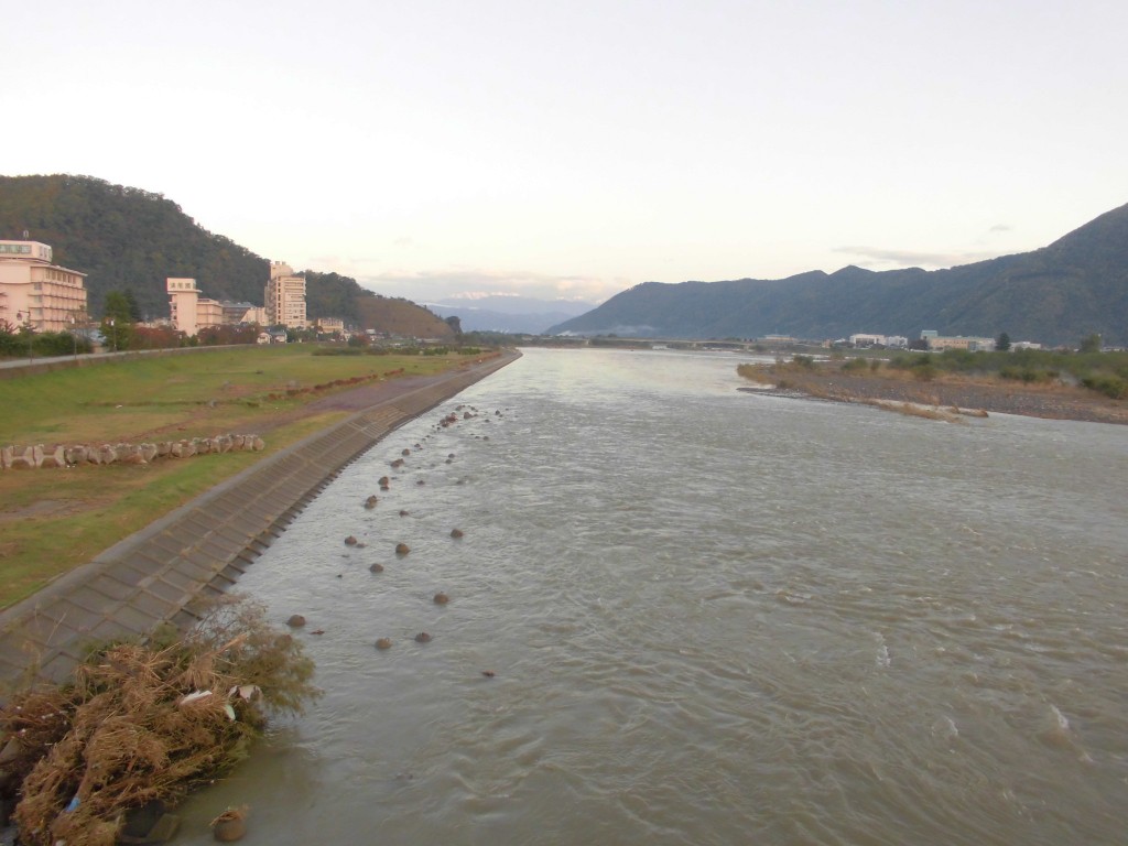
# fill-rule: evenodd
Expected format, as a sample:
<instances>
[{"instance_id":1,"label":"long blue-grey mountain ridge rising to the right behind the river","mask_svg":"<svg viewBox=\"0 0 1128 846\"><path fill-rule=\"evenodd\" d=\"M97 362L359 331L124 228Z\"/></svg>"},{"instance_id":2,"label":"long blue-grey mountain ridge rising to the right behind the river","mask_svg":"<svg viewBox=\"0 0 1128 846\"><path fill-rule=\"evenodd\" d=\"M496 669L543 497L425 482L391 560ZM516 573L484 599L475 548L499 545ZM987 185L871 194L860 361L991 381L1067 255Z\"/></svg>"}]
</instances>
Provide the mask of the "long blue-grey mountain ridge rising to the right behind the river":
<instances>
[{"instance_id":1,"label":"long blue-grey mountain ridge rising to the right behind the river","mask_svg":"<svg viewBox=\"0 0 1128 846\"><path fill-rule=\"evenodd\" d=\"M782 280L644 282L546 334L838 338L858 332L1128 344L1128 205L1054 244L950 270L811 271Z\"/></svg>"}]
</instances>

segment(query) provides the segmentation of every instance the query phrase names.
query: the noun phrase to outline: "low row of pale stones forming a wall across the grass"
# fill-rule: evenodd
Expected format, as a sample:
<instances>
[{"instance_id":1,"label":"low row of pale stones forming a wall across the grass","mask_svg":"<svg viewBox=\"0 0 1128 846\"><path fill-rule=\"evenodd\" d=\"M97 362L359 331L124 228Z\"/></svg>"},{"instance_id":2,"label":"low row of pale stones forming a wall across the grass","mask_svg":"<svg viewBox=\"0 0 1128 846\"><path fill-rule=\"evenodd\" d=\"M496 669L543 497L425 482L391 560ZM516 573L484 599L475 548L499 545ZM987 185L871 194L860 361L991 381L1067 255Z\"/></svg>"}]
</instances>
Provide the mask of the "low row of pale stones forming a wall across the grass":
<instances>
[{"instance_id":1,"label":"low row of pale stones forming a wall across the grass","mask_svg":"<svg viewBox=\"0 0 1128 846\"><path fill-rule=\"evenodd\" d=\"M158 458L188 458L220 452L262 452L266 443L257 434L218 434L157 443L56 443L44 447L0 448L0 470L38 470L79 464L149 464Z\"/></svg>"}]
</instances>

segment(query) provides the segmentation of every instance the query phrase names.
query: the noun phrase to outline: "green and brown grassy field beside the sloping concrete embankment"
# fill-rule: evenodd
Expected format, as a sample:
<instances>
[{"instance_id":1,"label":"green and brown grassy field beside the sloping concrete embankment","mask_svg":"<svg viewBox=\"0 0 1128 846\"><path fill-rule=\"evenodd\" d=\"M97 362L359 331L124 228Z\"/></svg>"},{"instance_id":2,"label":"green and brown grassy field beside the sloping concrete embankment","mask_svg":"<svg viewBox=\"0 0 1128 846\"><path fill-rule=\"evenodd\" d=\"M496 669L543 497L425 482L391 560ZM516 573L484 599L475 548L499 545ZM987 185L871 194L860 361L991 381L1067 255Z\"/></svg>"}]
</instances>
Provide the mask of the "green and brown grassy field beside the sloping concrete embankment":
<instances>
[{"instance_id":1,"label":"green and brown grassy field beside the sloping concrete embankment","mask_svg":"<svg viewBox=\"0 0 1128 846\"><path fill-rule=\"evenodd\" d=\"M266 451L0 473L0 608L217 483L347 416L316 399L351 378L449 370L458 355L312 355L296 344L129 358L0 381L0 444L140 443L261 434ZM400 372L402 371L402 372Z\"/></svg>"}]
</instances>

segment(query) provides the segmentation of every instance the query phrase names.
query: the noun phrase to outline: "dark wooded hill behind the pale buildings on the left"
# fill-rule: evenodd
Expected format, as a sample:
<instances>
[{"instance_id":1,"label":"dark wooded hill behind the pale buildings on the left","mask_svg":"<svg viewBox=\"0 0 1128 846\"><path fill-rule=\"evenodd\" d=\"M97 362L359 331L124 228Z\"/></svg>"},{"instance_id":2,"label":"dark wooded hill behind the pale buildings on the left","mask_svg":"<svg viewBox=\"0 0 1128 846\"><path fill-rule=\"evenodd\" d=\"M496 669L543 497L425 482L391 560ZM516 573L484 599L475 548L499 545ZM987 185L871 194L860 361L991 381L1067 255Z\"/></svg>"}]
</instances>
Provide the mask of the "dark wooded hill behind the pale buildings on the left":
<instances>
[{"instance_id":1,"label":"dark wooded hill behind the pale buildings on the left","mask_svg":"<svg viewBox=\"0 0 1128 846\"><path fill-rule=\"evenodd\" d=\"M90 176L0 176L0 238L51 245L55 264L88 274L99 317L109 291L131 291L147 318L168 317L168 276L195 279L205 297L262 305L270 262L214 235L160 194ZM305 271L310 318L341 317L367 329L449 338L442 319L337 273ZM398 332L395 327L409 327Z\"/></svg>"}]
</instances>

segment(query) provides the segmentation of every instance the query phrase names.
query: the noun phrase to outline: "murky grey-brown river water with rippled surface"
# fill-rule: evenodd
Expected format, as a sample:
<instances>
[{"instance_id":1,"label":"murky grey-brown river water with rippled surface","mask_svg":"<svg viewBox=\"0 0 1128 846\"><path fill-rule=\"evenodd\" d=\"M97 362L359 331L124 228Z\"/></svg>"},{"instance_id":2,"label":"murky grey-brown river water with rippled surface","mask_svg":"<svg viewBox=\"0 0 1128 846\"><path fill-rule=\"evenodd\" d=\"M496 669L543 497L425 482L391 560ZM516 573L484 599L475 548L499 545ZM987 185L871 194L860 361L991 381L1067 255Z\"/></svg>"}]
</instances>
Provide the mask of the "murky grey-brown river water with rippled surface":
<instances>
[{"instance_id":1,"label":"murky grey-brown river water with rippled surface","mask_svg":"<svg viewBox=\"0 0 1128 846\"><path fill-rule=\"evenodd\" d=\"M239 584L325 695L179 841L1126 843L1128 430L748 360L526 350L351 465Z\"/></svg>"}]
</instances>

